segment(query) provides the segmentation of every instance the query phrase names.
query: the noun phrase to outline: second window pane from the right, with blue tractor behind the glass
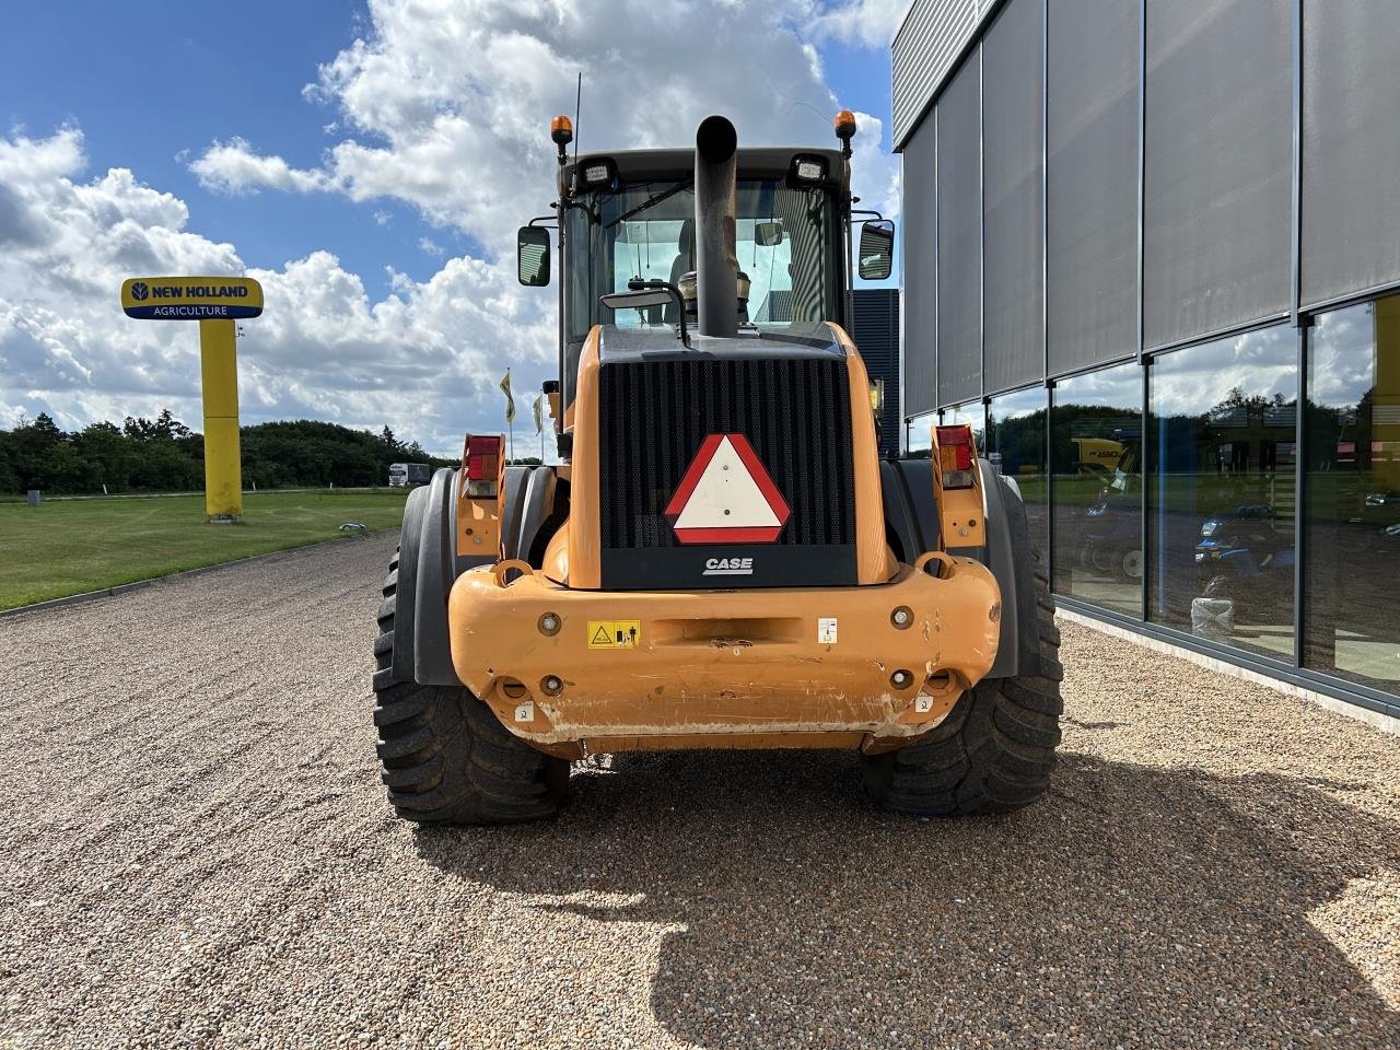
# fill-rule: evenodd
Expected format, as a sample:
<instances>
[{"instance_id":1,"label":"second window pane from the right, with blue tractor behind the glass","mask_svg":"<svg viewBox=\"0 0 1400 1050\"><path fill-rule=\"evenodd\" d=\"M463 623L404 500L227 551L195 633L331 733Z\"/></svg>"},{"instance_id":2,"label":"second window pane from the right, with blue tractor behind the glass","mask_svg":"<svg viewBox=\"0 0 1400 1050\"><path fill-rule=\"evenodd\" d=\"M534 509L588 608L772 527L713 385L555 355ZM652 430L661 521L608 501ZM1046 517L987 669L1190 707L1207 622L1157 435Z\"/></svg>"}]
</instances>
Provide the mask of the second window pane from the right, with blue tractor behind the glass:
<instances>
[{"instance_id":1,"label":"second window pane from the right, with blue tractor behind the glass","mask_svg":"<svg viewBox=\"0 0 1400 1050\"><path fill-rule=\"evenodd\" d=\"M1148 613L1294 655L1298 343L1268 329L1149 370Z\"/></svg>"}]
</instances>

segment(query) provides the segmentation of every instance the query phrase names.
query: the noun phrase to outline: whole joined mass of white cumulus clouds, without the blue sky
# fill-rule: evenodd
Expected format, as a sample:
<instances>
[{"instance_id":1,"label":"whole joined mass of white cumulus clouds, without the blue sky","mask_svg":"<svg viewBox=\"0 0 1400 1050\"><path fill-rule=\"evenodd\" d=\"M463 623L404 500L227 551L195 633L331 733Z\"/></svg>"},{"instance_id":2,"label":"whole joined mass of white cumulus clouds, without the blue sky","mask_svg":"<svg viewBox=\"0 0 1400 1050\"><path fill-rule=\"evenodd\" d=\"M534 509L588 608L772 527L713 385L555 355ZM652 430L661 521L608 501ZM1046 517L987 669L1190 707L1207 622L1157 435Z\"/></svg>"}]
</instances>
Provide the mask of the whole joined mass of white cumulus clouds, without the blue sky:
<instances>
[{"instance_id":1,"label":"whole joined mass of white cumulus clouds, without the blue sky","mask_svg":"<svg viewBox=\"0 0 1400 1050\"><path fill-rule=\"evenodd\" d=\"M116 305L133 273L248 273L266 312L245 325L245 420L314 416L395 430L437 451L468 428L500 427L496 381L543 379L554 356L554 297L521 288L514 230L553 200L547 120L574 112L580 144L685 143L710 112L745 144L829 144L819 45L878 39L875 0L728 0L722 4L370 0L364 35L328 56L304 95L333 112L312 167L259 151L237 133L188 161L214 193L333 193L395 203L465 235L480 258L441 258L427 281L389 270L386 295L328 252L249 269L237 248L189 228L178 197L123 168L90 172L83 136L0 139L0 413L49 410L69 427L171 406L197 424L192 325L127 321ZM855 192L892 214L897 164L881 120L858 113Z\"/></svg>"}]
</instances>

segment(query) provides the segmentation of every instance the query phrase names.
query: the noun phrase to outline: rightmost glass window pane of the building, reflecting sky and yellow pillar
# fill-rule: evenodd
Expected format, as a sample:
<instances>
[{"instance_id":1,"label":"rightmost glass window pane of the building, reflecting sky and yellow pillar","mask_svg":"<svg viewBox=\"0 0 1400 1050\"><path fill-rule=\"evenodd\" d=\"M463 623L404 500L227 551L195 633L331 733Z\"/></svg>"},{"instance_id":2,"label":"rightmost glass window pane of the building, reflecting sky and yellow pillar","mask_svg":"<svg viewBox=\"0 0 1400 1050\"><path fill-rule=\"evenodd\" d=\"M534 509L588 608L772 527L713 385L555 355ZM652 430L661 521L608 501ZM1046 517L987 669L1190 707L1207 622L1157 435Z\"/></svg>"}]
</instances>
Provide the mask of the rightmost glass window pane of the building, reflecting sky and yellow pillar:
<instances>
[{"instance_id":1,"label":"rightmost glass window pane of the building, reflecting sky and yellow pillar","mask_svg":"<svg viewBox=\"0 0 1400 1050\"><path fill-rule=\"evenodd\" d=\"M1303 665L1400 685L1400 297L1309 335Z\"/></svg>"}]
</instances>

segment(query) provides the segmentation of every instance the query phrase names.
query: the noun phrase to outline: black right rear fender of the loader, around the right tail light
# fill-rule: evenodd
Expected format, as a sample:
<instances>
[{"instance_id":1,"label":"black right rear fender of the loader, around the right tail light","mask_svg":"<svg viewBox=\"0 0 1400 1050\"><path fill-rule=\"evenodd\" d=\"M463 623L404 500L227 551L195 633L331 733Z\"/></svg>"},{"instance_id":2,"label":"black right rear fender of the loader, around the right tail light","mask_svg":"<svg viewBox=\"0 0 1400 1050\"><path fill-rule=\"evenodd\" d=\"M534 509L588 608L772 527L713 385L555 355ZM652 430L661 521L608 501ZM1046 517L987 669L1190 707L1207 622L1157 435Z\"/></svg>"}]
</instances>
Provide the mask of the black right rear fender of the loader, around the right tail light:
<instances>
[{"instance_id":1,"label":"black right rear fender of the loader, around the right tail light","mask_svg":"<svg viewBox=\"0 0 1400 1050\"><path fill-rule=\"evenodd\" d=\"M991 570L1001 588L1001 644L987 678L1016 678L1022 668L1037 673L1040 633L1036 623L1036 570L1026 507L1016 490L986 459L979 461L986 504L987 546L958 547ZM938 546L938 503L930 459L881 462L885 536L895 557L911 564Z\"/></svg>"}]
</instances>

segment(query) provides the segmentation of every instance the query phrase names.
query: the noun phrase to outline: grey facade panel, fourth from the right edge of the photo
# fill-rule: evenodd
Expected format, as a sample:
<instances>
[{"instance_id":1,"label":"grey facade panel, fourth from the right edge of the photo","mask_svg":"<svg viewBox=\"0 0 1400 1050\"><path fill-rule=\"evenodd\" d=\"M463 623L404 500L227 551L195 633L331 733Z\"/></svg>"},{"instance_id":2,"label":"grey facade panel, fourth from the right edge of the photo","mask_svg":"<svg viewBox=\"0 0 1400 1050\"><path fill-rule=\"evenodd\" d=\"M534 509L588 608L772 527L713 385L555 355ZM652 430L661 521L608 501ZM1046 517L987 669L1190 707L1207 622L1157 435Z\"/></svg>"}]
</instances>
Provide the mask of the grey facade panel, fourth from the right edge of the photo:
<instances>
[{"instance_id":1,"label":"grey facade panel, fourth from the right edge of the photo","mask_svg":"<svg viewBox=\"0 0 1400 1050\"><path fill-rule=\"evenodd\" d=\"M986 389L1044 377L1042 0L1012 0L983 42Z\"/></svg>"}]
</instances>

